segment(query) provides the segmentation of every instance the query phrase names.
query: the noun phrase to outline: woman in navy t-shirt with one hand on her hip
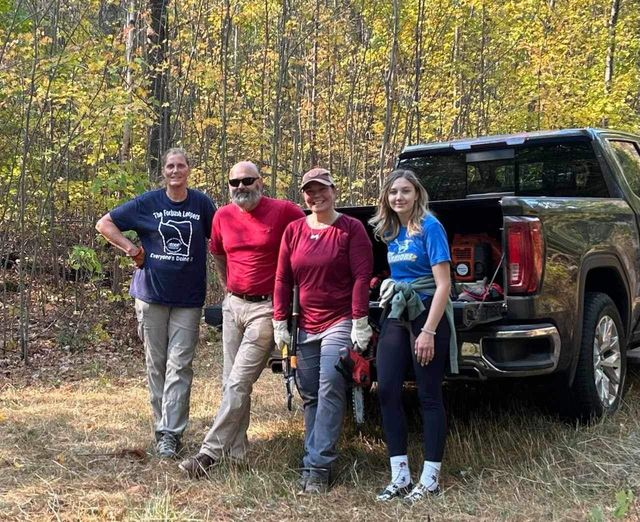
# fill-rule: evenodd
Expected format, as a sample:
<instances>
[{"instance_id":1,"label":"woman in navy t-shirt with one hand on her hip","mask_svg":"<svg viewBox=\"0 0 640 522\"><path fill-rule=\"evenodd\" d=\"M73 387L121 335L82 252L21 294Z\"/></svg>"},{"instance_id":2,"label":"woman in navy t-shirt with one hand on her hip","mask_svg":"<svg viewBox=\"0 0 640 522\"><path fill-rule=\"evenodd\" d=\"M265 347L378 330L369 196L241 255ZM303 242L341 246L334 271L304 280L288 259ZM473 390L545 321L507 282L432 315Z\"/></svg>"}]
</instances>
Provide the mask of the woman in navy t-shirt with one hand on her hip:
<instances>
[{"instance_id":1,"label":"woman in navy t-shirt with one hand on her hip","mask_svg":"<svg viewBox=\"0 0 640 522\"><path fill-rule=\"evenodd\" d=\"M96 224L136 270L138 334L144 342L149 395L160 457L175 457L189 419L196 344L206 291L207 238L215 207L188 188L189 161L182 149L163 157L165 187L114 208ZM122 232L133 230L141 246Z\"/></svg>"}]
</instances>

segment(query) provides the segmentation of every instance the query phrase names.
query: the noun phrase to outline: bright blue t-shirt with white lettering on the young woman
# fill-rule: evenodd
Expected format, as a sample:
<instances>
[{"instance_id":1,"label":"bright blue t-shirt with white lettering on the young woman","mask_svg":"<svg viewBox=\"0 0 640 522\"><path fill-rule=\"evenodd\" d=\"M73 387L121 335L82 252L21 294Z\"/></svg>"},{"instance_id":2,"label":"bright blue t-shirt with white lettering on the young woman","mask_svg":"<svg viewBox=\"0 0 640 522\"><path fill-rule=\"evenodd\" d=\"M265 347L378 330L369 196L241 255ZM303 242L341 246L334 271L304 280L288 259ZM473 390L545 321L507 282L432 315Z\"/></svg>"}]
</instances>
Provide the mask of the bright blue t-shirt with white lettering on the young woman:
<instances>
[{"instance_id":1,"label":"bright blue t-shirt with white lettering on the young woman","mask_svg":"<svg viewBox=\"0 0 640 522\"><path fill-rule=\"evenodd\" d=\"M387 261L391 277L396 281L411 281L432 275L431 267L451 261L447 233L432 214L422 220L419 234L407 236L407 227L400 227L398 236L387 244Z\"/></svg>"}]
</instances>

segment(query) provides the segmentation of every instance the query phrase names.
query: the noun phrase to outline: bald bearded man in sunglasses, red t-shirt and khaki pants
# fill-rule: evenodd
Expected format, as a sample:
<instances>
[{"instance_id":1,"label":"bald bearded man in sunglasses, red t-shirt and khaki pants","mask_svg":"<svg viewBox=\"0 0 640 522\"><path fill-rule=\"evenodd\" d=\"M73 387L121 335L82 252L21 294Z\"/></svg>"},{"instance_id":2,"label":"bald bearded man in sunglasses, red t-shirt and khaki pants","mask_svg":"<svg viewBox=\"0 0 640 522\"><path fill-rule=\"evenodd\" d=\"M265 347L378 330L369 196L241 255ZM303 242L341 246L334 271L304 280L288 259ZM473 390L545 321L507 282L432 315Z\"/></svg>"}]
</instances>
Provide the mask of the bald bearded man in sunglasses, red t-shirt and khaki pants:
<instances>
[{"instance_id":1,"label":"bald bearded man in sunglasses, red t-shirt and khaki pants","mask_svg":"<svg viewBox=\"0 0 640 522\"><path fill-rule=\"evenodd\" d=\"M210 250L226 298L222 303L224 369L222 401L197 455L179 465L202 477L221 458L244 460L251 391L273 348L273 286L280 240L286 226L304 217L290 201L264 196L251 162L229 173L231 203L211 227Z\"/></svg>"}]
</instances>

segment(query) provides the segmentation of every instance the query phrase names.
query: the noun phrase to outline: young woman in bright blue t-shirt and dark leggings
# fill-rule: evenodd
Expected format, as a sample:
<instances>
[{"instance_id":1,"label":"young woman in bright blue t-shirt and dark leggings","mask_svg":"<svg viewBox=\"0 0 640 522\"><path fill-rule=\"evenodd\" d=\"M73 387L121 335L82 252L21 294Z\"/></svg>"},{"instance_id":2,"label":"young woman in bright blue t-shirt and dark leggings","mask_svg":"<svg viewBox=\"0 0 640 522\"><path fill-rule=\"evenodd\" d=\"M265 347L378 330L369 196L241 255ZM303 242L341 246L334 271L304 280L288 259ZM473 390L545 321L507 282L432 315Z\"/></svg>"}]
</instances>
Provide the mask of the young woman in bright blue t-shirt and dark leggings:
<instances>
[{"instance_id":1,"label":"young woman in bright blue t-shirt and dark leggings","mask_svg":"<svg viewBox=\"0 0 640 522\"><path fill-rule=\"evenodd\" d=\"M382 187L378 210L370 221L376 236L387 244L391 280L383 285L382 300L393 304L382 324L376 357L383 430L391 461L391 482L378 494L379 501L404 497L415 502L439 492L446 438L442 378L451 340L448 319L452 318L445 317L451 256L444 228L427 205L427 192L416 175L410 170L394 170ZM400 310L398 301L402 302ZM424 310L409 306L411 302L422 302ZM410 368L418 388L424 447L423 470L415 486L407 459L402 407L402 387Z\"/></svg>"}]
</instances>

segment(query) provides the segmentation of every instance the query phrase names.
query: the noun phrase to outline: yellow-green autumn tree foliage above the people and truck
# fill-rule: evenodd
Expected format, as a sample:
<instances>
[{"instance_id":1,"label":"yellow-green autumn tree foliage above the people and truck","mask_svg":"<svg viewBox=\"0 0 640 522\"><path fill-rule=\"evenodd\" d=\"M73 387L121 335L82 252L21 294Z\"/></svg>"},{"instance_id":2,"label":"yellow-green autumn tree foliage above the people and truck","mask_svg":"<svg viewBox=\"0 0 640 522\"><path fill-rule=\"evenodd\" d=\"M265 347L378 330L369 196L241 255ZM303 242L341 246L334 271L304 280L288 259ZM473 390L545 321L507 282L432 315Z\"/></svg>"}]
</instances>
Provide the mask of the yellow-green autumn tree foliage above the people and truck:
<instances>
[{"instance_id":1,"label":"yellow-green autumn tree foliage above the people and truck","mask_svg":"<svg viewBox=\"0 0 640 522\"><path fill-rule=\"evenodd\" d=\"M0 17L12 18L17 5L0 0ZM24 121L30 114L37 127L37 146L24 158L35 185L30 194L46 194L62 171L65 181L78 183L68 191L56 187L55 201L69 197L77 208L89 200L90 207L106 211L148 186L146 136L155 108L147 91L152 71L140 46L144 18L133 29L127 61L126 34L105 34L96 23L100 5L73 0L57 17L47 12L39 18L23 7L18 18L39 25L30 32L14 28L12 35L3 19L0 36L9 37L4 63L10 67L0 67L0 140L7 142L4 150L20 154L20 147L11 147L21 131L16 115ZM216 0L204 11L201 2L185 0L168 12L164 105L173 113L174 143L196 156L194 183L224 198L222 165L252 158L268 173L273 151L280 194L288 192L292 174L311 163L350 181L370 181L385 127L392 3L286 4L282 25L281 2L241 0L230 14L233 42L226 43L220 36L224 5ZM609 0L401 2L389 158L415 141L603 121L637 128L639 7L638 0L621 3L613 82L605 92ZM288 49L283 63L281 45ZM123 160L127 127L132 146ZM12 160L0 159L1 176L15 172ZM370 200L375 188L369 183L358 190L356 202ZM36 204L31 212L37 214Z\"/></svg>"}]
</instances>

